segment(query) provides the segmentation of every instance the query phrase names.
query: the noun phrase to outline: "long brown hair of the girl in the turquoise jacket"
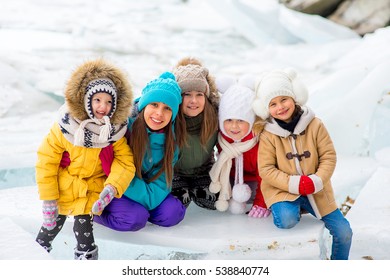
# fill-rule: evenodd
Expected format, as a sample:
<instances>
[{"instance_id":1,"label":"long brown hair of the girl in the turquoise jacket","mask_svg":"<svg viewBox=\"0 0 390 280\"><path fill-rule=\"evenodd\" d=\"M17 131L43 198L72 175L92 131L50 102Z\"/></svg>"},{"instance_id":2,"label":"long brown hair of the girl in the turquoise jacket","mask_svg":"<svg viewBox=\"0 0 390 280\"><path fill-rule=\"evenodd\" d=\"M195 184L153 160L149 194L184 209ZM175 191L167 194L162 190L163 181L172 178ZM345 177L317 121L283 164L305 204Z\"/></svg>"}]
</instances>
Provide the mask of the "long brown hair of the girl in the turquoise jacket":
<instances>
[{"instance_id":1,"label":"long brown hair of the girl in the turquoise jacket","mask_svg":"<svg viewBox=\"0 0 390 280\"><path fill-rule=\"evenodd\" d=\"M142 161L145 157L145 154L148 153L150 149L149 142L145 141L145 139L148 139L147 128L148 127L146 125L145 118L144 118L144 110L142 110L139 112L136 120L132 125L132 132L130 133L130 135L128 135L128 142L134 154L134 164L136 167L136 174L139 178L142 178ZM178 130L180 130L180 124ZM173 157L175 152L175 146L178 143L178 141L175 140L174 132L172 130L172 120L170 120L170 122L164 128L164 133L165 133L164 156L161 159L161 161L158 163L160 169L147 182L148 183L153 182L163 172L165 172L165 180L167 186L170 186L173 179L172 162L173 162Z\"/></svg>"}]
</instances>

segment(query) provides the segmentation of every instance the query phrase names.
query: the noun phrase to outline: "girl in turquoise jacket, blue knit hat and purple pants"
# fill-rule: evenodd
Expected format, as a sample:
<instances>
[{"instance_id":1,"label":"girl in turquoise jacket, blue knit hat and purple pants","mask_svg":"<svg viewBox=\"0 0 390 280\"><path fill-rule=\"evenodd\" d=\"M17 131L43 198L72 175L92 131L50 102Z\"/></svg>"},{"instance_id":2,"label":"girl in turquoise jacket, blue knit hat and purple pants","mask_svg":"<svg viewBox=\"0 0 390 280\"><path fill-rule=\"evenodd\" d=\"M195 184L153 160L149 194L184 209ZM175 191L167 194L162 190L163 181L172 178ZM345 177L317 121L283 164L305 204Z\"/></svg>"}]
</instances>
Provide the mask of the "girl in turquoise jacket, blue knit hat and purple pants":
<instances>
[{"instance_id":1,"label":"girl in turquoise jacket, blue knit hat and purple pants","mask_svg":"<svg viewBox=\"0 0 390 280\"><path fill-rule=\"evenodd\" d=\"M170 194L173 167L184 140L175 131L181 89L170 72L149 82L135 100L137 112L129 119L127 139L134 152L136 175L120 199L114 199L95 221L118 231L137 231L149 221L174 226L183 220L185 207Z\"/></svg>"}]
</instances>

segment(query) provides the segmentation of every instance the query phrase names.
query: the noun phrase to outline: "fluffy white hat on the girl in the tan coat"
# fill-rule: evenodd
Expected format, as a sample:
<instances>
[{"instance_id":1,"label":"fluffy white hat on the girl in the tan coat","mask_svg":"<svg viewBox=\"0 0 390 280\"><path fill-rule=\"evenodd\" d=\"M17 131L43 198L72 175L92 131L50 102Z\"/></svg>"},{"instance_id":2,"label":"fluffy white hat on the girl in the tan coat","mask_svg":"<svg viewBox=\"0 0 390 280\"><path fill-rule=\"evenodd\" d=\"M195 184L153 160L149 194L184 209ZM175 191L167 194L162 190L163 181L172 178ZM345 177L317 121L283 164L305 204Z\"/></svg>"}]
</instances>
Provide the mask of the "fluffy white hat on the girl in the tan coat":
<instances>
[{"instance_id":1,"label":"fluffy white hat on the girl in the tan coat","mask_svg":"<svg viewBox=\"0 0 390 280\"><path fill-rule=\"evenodd\" d=\"M268 105L278 96L289 96L295 103L303 106L308 99L306 86L297 78L294 69L273 70L264 74L256 85L256 99L252 107L263 120L269 117Z\"/></svg>"}]
</instances>

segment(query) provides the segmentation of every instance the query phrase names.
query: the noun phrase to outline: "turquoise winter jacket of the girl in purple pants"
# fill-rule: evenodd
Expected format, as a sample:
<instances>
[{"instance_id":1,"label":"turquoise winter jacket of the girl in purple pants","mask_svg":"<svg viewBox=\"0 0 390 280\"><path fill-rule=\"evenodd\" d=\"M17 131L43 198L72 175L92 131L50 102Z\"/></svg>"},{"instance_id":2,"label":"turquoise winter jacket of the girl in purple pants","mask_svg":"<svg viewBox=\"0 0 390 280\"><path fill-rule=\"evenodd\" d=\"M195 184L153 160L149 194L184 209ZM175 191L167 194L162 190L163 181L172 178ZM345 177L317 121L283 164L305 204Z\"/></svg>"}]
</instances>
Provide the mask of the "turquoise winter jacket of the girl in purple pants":
<instances>
[{"instance_id":1,"label":"turquoise winter jacket of the girl in purple pants","mask_svg":"<svg viewBox=\"0 0 390 280\"><path fill-rule=\"evenodd\" d=\"M131 128L134 120L135 118L129 119L128 128L130 132L132 131ZM150 152L145 154L142 161L142 178L135 175L125 191L124 196L140 203L147 210L153 210L171 192L171 185L167 186L166 184L165 172L161 173L153 182L147 183L145 181L153 177L159 170L157 164L164 156L165 134L148 130L148 140L150 143ZM178 155L179 149L176 147L172 166L177 162Z\"/></svg>"}]
</instances>

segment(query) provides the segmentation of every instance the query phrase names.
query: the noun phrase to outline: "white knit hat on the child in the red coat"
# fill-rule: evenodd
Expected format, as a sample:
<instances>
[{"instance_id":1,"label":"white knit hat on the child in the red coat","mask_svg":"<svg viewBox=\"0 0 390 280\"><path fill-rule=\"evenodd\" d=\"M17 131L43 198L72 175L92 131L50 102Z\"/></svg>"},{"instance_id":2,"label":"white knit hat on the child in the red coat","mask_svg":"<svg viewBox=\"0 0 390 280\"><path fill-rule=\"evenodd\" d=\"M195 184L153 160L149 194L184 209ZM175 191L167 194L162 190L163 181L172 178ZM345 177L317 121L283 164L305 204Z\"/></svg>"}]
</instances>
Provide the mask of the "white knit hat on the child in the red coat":
<instances>
[{"instance_id":1,"label":"white knit hat on the child in the red coat","mask_svg":"<svg viewBox=\"0 0 390 280\"><path fill-rule=\"evenodd\" d=\"M244 75L237 81L231 76L221 76L216 79L216 84L221 93L218 112L220 130L227 135L223 127L223 123L227 119L244 120L250 125L248 133L245 135L247 136L255 121L255 112L252 109L252 102L255 98L255 77Z\"/></svg>"}]
</instances>

